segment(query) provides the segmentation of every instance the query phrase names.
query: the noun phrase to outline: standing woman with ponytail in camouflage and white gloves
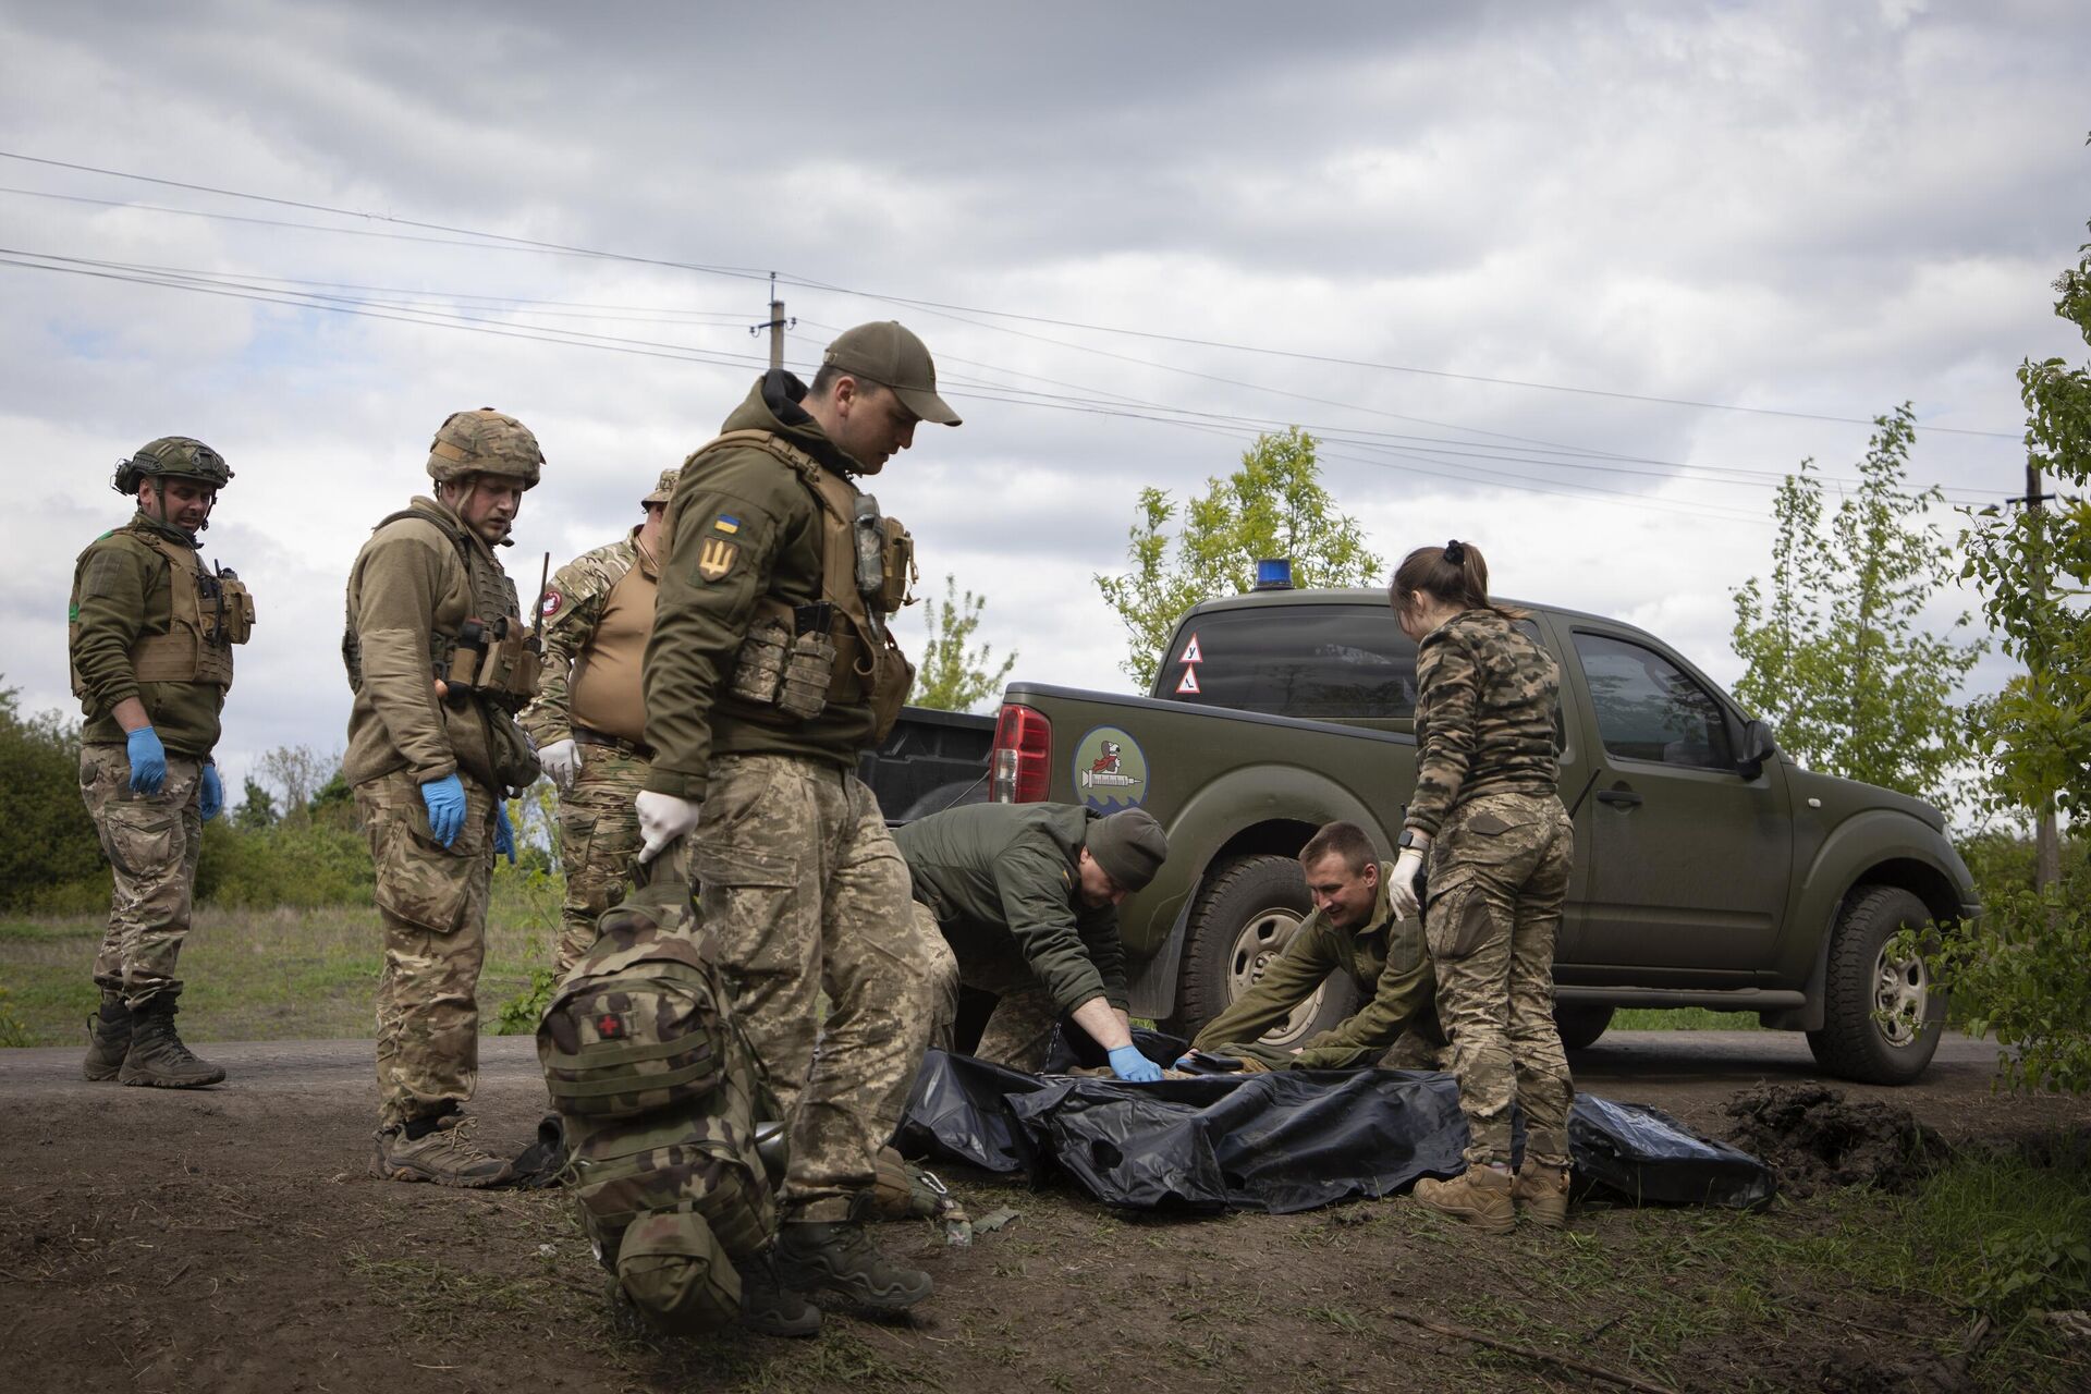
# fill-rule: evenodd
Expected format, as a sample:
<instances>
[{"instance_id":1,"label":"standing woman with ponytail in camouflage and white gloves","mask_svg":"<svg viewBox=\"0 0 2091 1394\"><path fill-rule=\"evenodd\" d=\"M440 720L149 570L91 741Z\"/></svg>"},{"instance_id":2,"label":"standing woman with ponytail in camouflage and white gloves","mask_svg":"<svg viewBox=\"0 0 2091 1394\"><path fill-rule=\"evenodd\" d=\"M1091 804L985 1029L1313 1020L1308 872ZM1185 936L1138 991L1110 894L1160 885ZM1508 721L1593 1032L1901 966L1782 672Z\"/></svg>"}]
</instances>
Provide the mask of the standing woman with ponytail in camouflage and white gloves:
<instances>
[{"instance_id":1,"label":"standing woman with ponytail in camouflage and white gloves","mask_svg":"<svg viewBox=\"0 0 2091 1394\"><path fill-rule=\"evenodd\" d=\"M1560 669L1489 604L1472 543L1418 548L1391 587L1416 650L1416 794L1391 895L1416 911L1430 859L1424 934L1451 1035L1466 1170L1418 1181L1416 1200L1491 1233L1522 1210L1568 1214L1568 1103L1575 1085L1554 1026L1554 945L1575 830L1556 782ZM1510 1175L1510 1106L1524 1114L1524 1166Z\"/></svg>"}]
</instances>

